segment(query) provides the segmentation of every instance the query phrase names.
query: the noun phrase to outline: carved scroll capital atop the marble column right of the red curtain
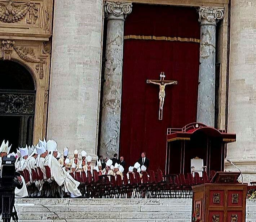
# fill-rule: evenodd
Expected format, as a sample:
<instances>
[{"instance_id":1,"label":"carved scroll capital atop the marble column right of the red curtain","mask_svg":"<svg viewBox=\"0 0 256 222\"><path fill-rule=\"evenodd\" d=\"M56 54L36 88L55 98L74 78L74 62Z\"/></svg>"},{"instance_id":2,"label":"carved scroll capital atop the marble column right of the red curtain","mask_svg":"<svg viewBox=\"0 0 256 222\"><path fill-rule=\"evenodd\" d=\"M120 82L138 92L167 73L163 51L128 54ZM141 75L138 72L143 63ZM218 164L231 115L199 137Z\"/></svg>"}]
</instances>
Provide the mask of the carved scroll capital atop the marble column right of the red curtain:
<instances>
[{"instance_id":1,"label":"carved scroll capital atop the marble column right of the red curtain","mask_svg":"<svg viewBox=\"0 0 256 222\"><path fill-rule=\"evenodd\" d=\"M224 17L223 7L205 7L200 6L199 8L199 22L216 24L217 21Z\"/></svg>"}]
</instances>

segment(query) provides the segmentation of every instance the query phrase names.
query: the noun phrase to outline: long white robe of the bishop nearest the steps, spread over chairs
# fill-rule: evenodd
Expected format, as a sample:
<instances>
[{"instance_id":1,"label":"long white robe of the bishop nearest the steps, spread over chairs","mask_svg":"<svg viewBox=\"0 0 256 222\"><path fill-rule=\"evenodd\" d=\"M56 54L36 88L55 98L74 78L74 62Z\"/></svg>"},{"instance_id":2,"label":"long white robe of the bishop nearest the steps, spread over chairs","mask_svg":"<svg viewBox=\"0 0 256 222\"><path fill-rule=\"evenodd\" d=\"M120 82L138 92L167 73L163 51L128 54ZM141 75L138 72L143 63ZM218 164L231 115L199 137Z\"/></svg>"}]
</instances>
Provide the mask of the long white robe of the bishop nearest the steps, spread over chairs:
<instances>
[{"instance_id":1,"label":"long white robe of the bishop nearest the steps, spread over chairs","mask_svg":"<svg viewBox=\"0 0 256 222\"><path fill-rule=\"evenodd\" d=\"M69 192L71 197L79 197L81 196L81 192L78 190L78 186L80 182L74 180L74 178L67 173L61 166L59 166L59 162L55 157L52 157L51 162L51 174L56 183L59 186L64 185L64 191Z\"/></svg>"}]
</instances>

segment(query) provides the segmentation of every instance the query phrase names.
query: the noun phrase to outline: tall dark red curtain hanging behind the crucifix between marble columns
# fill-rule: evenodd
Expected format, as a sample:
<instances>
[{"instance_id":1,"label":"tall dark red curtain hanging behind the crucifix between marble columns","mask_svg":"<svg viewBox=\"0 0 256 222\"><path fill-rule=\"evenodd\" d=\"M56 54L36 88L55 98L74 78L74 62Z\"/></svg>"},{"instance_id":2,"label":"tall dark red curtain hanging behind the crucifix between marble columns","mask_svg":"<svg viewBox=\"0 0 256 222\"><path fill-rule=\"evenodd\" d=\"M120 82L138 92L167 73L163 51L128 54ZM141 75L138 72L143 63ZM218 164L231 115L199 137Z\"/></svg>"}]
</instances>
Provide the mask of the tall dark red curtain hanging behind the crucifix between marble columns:
<instances>
[{"instance_id":1,"label":"tall dark red curtain hanging behind the crucifix between marble columns","mask_svg":"<svg viewBox=\"0 0 256 222\"><path fill-rule=\"evenodd\" d=\"M134 4L124 35L200 38L194 8ZM163 120L158 119L159 86L147 79L177 80L165 87ZM123 62L120 155L134 164L142 151L150 168L165 168L166 132L195 122L199 72L199 43L125 40Z\"/></svg>"}]
</instances>

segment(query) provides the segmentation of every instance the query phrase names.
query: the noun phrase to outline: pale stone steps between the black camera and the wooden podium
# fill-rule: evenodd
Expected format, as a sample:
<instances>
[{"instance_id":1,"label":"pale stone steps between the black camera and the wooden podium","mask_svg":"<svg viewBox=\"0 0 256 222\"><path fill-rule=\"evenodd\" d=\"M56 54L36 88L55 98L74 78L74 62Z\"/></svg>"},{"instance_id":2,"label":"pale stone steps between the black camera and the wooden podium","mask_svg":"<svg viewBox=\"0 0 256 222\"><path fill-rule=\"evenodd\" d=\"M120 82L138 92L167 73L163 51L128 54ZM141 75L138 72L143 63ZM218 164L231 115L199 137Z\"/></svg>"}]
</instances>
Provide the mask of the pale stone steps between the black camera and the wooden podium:
<instances>
[{"instance_id":1,"label":"pale stone steps between the black camera and the wooden podium","mask_svg":"<svg viewBox=\"0 0 256 222\"><path fill-rule=\"evenodd\" d=\"M190 222L191 199L16 199L19 222Z\"/></svg>"}]
</instances>

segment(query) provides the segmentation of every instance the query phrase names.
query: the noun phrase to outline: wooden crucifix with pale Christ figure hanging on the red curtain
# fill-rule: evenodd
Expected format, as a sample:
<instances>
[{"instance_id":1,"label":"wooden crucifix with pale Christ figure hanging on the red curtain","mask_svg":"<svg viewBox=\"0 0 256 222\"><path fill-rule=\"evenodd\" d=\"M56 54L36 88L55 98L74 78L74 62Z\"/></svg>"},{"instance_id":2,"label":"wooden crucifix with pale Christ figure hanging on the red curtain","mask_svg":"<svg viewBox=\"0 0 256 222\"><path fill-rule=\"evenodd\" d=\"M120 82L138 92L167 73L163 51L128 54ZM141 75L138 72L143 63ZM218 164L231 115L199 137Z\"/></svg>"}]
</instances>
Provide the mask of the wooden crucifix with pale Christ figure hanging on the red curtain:
<instances>
[{"instance_id":1,"label":"wooden crucifix with pale Christ figure hanging on the red curtain","mask_svg":"<svg viewBox=\"0 0 256 222\"><path fill-rule=\"evenodd\" d=\"M164 97L165 97L165 86L166 85L173 85L177 84L177 81L168 81L164 80L164 72L161 72L160 74L160 80L147 80L147 83L153 83L155 85L159 85L160 91L159 91L159 120L163 119L163 107L164 107Z\"/></svg>"}]
</instances>

